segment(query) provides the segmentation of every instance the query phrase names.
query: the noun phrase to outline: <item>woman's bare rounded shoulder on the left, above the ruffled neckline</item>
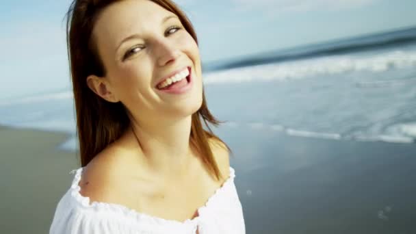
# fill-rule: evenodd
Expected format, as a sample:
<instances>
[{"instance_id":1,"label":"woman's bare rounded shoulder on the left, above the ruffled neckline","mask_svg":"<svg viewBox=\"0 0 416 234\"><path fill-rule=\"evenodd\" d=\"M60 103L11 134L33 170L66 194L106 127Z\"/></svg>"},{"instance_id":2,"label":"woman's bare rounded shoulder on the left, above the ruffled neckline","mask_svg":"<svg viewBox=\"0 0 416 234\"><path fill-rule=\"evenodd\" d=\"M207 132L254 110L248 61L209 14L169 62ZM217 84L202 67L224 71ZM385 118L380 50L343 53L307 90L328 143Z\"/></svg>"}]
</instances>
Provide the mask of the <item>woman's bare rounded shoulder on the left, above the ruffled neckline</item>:
<instances>
[{"instance_id":1,"label":"woman's bare rounded shoulder on the left, above the ruffled neckline","mask_svg":"<svg viewBox=\"0 0 416 234\"><path fill-rule=\"evenodd\" d=\"M117 156L117 157L116 157ZM105 148L84 168L79 191L82 196L90 198L90 202L99 201L118 203L125 174L125 166L117 159L119 152L114 147Z\"/></svg>"}]
</instances>

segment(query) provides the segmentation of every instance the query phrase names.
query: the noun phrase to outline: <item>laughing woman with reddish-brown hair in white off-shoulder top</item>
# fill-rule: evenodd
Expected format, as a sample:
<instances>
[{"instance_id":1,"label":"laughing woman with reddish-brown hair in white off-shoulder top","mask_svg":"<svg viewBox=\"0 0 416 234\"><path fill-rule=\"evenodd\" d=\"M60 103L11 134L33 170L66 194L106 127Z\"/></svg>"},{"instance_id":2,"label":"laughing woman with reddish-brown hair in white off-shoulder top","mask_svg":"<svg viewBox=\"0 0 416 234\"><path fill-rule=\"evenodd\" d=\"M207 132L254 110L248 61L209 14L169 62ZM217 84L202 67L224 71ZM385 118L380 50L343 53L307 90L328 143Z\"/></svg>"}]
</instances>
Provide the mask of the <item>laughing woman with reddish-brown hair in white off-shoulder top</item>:
<instances>
[{"instance_id":1,"label":"laughing woman with reddish-brown hair in white off-shoulder top","mask_svg":"<svg viewBox=\"0 0 416 234\"><path fill-rule=\"evenodd\" d=\"M169 0L75 0L67 25L82 168L50 233L245 233L185 14Z\"/></svg>"}]
</instances>

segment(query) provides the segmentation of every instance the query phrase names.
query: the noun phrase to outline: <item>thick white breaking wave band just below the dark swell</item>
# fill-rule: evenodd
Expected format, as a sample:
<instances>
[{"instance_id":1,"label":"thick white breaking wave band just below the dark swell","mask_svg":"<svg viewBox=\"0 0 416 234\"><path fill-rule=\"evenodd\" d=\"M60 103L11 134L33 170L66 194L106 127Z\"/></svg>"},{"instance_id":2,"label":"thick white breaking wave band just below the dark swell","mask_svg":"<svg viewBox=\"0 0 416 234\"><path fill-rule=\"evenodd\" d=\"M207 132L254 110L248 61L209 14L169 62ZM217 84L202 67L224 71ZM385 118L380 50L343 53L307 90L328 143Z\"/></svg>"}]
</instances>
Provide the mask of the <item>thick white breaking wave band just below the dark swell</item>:
<instances>
[{"instance_id":1,"label":"thick white breaking wave band just below the dark swell","mask_svg":"<svg viewBox=\"0 0 416 234\"><path fill-rule=\"evenodd\" d=\"M391 68L413 66L416 66L416 51L398 50L376 55L334 55L206 73L204 83L285 81L358 71L381 73Z\"/></svg>"}]
</instances>

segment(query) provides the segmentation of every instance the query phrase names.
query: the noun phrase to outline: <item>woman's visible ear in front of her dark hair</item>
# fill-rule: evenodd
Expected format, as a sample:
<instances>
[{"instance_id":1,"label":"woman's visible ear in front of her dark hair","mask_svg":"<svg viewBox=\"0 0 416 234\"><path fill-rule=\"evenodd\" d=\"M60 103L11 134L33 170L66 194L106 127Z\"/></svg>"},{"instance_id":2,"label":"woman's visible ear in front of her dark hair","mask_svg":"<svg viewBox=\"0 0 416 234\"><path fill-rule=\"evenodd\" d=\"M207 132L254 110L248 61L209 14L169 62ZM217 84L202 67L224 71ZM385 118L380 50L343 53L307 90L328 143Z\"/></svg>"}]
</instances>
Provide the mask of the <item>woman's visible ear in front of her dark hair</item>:
<instances>
[{"instance_id":1,"label":"woman's visible ear in front of her dark hair","mask_svg":"<svg viewBox=\"0 0 416 234\"><path fill-rule=\"evenodd\" d=\"M112 87L105 77L97 77L96 75L89 75L87 77L87 85L95 94L101 96L102 99L111 103L120 101L116 94L112 92Z\"/></svg>"}]
</instances>

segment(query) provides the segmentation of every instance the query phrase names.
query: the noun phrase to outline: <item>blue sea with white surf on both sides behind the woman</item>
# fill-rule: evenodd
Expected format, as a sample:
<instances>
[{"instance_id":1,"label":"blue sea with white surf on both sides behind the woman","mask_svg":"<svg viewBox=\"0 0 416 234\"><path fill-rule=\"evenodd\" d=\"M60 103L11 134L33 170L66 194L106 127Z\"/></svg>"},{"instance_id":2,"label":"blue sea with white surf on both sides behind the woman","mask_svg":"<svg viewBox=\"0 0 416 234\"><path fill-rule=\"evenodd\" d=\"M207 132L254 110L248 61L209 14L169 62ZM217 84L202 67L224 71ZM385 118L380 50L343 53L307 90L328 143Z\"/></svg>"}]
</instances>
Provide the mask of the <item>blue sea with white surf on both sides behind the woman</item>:
<instances>
[{"instance_id":1,"label":"blue sea with white surf on both sides behind the woman","mask_svg":"<svg viewBox=\"0 0 416 234\"><path fill-rule=\"evenodd\" d=\"M204 68L207 102L227 121L224 127L304 138L415 142L416 28ZM75 136L73 94L60 90L0 101L0 125ZM75 139L62 148L75 149Z\"/></svg>"}]
</instances>

